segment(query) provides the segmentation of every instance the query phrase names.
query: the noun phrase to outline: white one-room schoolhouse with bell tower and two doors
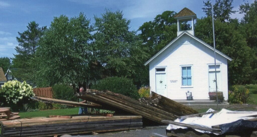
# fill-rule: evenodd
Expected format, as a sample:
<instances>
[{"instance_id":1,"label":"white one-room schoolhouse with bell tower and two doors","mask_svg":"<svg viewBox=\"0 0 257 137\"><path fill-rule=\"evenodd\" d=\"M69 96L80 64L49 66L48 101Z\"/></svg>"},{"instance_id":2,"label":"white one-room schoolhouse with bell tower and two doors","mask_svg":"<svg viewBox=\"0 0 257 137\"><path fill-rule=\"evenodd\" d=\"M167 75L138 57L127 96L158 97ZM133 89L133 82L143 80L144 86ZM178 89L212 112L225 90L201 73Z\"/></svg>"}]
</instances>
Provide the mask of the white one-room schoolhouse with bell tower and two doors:
<instances>
[{"instance_id":1,"label":"white one-room schoolhouse with bell tower and two doors","mask_svg":"<svg viewBox=\"0 0 257 137\"><path fill-rule=\"evenodd\" d=\"M155 54L149 64L150 90L173 100L209 99L216 92L214 48L194 36L196 14L183 8L176 16L177 38ZM216 50L218 91L228 99L228 63L231 58Z\"/></svg>"}]
</instances>

